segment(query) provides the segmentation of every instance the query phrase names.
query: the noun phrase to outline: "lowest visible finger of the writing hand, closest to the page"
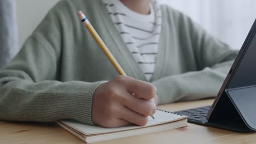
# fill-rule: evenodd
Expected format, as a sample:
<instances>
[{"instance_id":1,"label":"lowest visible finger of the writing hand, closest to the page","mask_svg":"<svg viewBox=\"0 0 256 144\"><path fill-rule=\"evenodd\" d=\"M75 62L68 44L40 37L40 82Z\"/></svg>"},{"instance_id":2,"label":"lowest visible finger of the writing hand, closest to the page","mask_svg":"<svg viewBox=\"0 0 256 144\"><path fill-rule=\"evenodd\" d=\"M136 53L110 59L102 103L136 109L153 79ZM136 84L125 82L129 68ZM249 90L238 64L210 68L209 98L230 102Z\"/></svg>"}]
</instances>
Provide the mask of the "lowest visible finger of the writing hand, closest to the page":
<instances>
[{"instance_id":1,"label":"lowest visible finger of the writing hand, closest to the page","mask_svg":"<svg viewBox=\"0 0 256 144\"><path fill-rule=\"evenodd\" d=\"M119 117L127 122L137 124L139 126L144 126L148 123L148 117L143 116L135 111L122 107L119 112Z\"/></svg>"}]
</instances>

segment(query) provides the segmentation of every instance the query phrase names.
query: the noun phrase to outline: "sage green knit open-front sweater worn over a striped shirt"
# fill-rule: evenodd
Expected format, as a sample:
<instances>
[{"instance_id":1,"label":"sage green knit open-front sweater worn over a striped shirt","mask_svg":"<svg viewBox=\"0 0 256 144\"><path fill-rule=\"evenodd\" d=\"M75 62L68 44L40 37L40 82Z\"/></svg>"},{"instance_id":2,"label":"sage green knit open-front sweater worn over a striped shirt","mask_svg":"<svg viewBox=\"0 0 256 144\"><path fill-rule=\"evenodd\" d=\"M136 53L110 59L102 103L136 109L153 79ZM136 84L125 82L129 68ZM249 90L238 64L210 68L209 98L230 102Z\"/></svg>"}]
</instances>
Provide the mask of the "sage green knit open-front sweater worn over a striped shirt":
<instances>
[{"instance_id":1,"label":"sage green knit open-front sweater worn over a striped shirt","mask_svg":"<svg viewBox=\"0 0 256 144\"><path fill-rule=\"evenodd\" d=\"M0 70L0 119L93 124L92 96L117 71L76 15L83 10L128 76L147 81L101 1L63 0L7 67ZM155 71L159 104L214 97L237 51L189 17L161 6L162 31Z\"/></svg>"}]
</instances>

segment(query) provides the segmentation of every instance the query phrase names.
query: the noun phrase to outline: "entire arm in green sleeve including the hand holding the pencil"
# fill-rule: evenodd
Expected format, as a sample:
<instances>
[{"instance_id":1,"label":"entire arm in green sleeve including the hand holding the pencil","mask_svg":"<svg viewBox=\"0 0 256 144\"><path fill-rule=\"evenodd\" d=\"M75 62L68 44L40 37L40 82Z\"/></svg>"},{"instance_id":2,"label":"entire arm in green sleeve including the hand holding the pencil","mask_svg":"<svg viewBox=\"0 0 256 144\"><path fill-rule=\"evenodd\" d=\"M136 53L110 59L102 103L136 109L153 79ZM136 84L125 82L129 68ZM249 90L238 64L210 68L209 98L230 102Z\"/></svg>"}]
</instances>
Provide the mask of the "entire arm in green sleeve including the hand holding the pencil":
<instances>
[{"instance_id":1,"label":"entire arm in green sleeve including the hand holding the pencil","mask_svg":"<svg viewBox=\"0 0 256 144\"><path fill-rule=\"evenodd\" d=\"M148 116L156 112L157 97L152 84L128 76L108 82L69 81L73 80L72 75L93 74L70 69L69 61L74 55L68 55L67 49L72 52L73 47L81 47L80 43L71 44L77 34L71 34L76 30L72 29L72 20L65 18L76 17L70 16L76 8L68 8L71 4L67 2L73 1L57 4L59 9L50 11L14 60L0 71L0 119L53 122L68 118L108 128L147 124ZM63 38L67 35L71 37ZM84 43L83 49L89 50L88 45Z\"/></svg>"}]
</instances>

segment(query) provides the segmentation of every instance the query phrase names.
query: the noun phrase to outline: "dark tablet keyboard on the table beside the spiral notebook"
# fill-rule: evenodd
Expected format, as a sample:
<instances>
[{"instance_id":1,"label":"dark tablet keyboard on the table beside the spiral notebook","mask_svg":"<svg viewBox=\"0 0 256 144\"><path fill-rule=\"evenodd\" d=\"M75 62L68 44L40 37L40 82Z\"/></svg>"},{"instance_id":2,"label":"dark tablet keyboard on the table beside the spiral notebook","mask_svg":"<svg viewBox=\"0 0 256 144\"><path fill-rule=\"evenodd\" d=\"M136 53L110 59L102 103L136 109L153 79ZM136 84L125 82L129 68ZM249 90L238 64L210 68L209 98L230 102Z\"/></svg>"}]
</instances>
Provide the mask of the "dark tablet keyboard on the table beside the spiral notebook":
<instances>
[{"instance_id":1,"label":"dark tablet keyboard on the table beside the spiral notebook","mask_svg":"<svg viewBox=\"0 0 256 144\"><path fill-rule=\"evenodd\" d=\"M208 111L211 109L211 106L198 107L195 109L189 109L184 111L177 111L180 115L188 116L188 122L203 124L208 122L206 119Z\"/></svg>"}]
</instances>

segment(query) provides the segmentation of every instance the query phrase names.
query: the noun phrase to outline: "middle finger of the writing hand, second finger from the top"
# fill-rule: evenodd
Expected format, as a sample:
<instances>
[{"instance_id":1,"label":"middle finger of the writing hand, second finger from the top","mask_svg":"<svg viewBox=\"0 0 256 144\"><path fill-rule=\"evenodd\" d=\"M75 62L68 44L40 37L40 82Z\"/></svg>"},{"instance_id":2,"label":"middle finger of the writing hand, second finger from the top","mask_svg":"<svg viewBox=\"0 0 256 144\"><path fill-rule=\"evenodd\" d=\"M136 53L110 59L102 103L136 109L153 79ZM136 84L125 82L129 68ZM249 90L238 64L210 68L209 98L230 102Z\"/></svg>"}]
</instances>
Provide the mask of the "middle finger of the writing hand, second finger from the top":
<instances>
[{"instance_id":1,"label":"middle finger of the writing hand, second finger from the top","mask_svg":"<svg viewBox=\"0 0 256 144\"><path fill-rule=\"evenodd\" d=\"M121 103L132 111L135 111L143 116L150 116L156 111L156 106L153 102L137 98L130 93L124 93L121 96Z\"/></svg>"}]
</instances>

